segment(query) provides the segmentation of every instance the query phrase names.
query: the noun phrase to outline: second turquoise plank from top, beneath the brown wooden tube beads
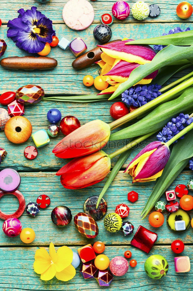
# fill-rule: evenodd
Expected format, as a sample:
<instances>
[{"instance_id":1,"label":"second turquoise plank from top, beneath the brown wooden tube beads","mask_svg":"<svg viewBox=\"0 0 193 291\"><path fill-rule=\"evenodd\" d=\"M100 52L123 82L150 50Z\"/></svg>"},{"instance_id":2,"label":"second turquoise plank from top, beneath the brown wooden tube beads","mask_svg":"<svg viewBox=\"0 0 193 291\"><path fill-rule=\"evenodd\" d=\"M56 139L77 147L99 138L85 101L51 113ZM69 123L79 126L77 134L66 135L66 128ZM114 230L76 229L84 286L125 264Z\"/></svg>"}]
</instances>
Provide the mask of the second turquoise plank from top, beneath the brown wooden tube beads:
<instances>
[{"instance_id":1,"label":"second turquoise plank from top, beneath the brown wooden tube beads","mask_svg":"<svg viewBox=\"0 0 193 291\"><path fill-rule=\"evenodd\" d=\"M117 38L140 38L149 36L160 36L163 32L169 31L171 28L181 26L186 28L187 24L183 23L165 23L160 25L159 23L151 24L114 24L112 26L113 37ZM59 38L65 36L67 39L72 40L79 36L85 40L88 50L92 49L96 45L96 41L93 38L93 29L95 24L92 24L86 31L74 31L65 27L63 24L55 24L54 29ZM8 48L4 57L8 56L25 56L26 52L20 50L15 46L15 43L6 37L7 27L6 25L1 26L1 38L7 42ZM59 47L51 49L49 54L50 57L56 58L58 66L54 70L49 71L9 71L4 68L0 68L1 74L1 86L0 93L4 91L16 91L19 87L36 83L44 88L46 95L83 95L89 93L98 92L94 86L88 88L82 83L84 75L91 74L94 77L98 75L99 66L93 65L84 70L76 71L72 68L71 64L74 60L73 54L66 49L62 50ZM76 106L72 105L72 106Z\"/></svg>"}]
</instances>

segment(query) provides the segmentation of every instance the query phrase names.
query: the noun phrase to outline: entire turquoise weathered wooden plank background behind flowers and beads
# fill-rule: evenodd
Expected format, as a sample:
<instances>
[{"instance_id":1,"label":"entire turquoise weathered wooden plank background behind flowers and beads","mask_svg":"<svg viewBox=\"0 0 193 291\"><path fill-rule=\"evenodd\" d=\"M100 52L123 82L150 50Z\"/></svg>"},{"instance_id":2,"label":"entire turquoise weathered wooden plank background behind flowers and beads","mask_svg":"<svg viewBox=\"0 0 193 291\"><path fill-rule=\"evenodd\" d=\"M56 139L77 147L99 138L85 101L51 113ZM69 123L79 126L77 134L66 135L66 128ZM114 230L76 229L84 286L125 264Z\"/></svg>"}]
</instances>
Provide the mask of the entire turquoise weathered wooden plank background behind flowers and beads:
<instances>
[{"instance_id":1,"label":"entire turquoise weathered wooden plank background behind flowers and beads","mask_svg":"<svg viewBox=\"0 0 193 291\"><path fill-rule=\"evenodd\" d=\"M37 6L38 10L42 11L42 13L53 20L53 26L59 38L64 36L67 39L72 40L79 36L86 42L88 49L95 47L96 42L92 36L93 29L99 23L100 15L105 12L111 13L112 4L115 1L92 1L91 4L95 10L95 18L93 24L85 31L73 31L65 26L62 19L62 8L65 2L66 1L51 0L47 4L41 4L34 0L30 0L27 3L23 0L0 0L0 18L3 22L3 25L0 27L0 38L6 40L8 45L7 51L3 57L26 55L24 51L19 50L15 46L12 40L6 37L6 23L9 19L17 17L17 10L19 8L29 9L31 6ZM134 2L135 1L129 1L130 7ZM148 1L148 3L152 4L155 2L151 0ZM168 32L171 28L176 26L180 26L181 28L189 26L190 29L192 29L193 17L190 17L185 21L177 17L175 9L178 1L169 0L157 4L160 6L161 14L156 19L147 18L143 22L136 21L132 16L129 16L124 21L114 19L114 23L111 26L113 31L112 39L123 37L137 39L141 37L160 36L163 32ZM47 96L80 95L97 92L95 88L85 88L82 84L82 78L85 74L91 74L94 77L98 75L99 67L97 65L93 65L84 70L75 71L71 67L71 63L74 60L73 54L69 50L63 51L59 47L52 48L49 56L56 58L58 61L57 68L51 71L14 72L0 68L0 93L5 91L16 91L20 86L30 83L42 86ZM187 70L186 72L190 70ZM184 74L185 72L176 74L171 78L171 81L182 77ZM49 124L46 114L47 111L53 107L61 110L62 116L75 115L79 118L81 124L96 118L110 123L112 121L112 118L109 115L111 104L113 104L113 101L84 104L70 102L40 102L34 106L25 106L25 117L32 123L33 132L41 128L46 129ZM36 201L37 196L40 194L47 194L51 198L50 207L42 210L37 217L31 218L24 213L20 218L23 227L32 227L35 230L36 238L32 244L25 245L20 241L19 237L9 238L1 232L0 291L101 290L95 280L84 280L78 272L79 268L77 268L75 278L73 278L69 283L63 283L56 279L44 282L41 281L39 275L35 274L33 271L34 254L39 246L47 248L52 241L56 246L68 245L73 250L77 250L79 246L88 244L89 242L93 243L96 240L102 240L106 244L105 254L107 254L110 259L113 258L115 253L117 255L123 255L123 253L129 249L132 251L132 258L135 258L138 263L136 268L129 267L129 271L125 276L114 278L110 287L112 291L192 290L192 269L190 273L187 274L175 273L175 255L170 248L170 244L174 239L182 239L185 243L185 250L182 255L188 255L190 257L192 268L192 228L190 227L183 233L171 232L166 225L166 212L164 213L165 222L163 226L158 229L152 228L149 225L148 219L141 221L140 213L155 185L155 182L132 184L131 177L123 174L123 170L128 162L139 152L142 145L133 150L127 162L122 166L122 171L118 173L104 198L107 200L108 212L114 211L116 205L119 203L127 203L129 205L130 212L128 219L134 224L135 230L137 230L138 226L141 224L158 233L156 245L153 247L149 255L157 253L164 255L167 258L169 262L169 272L165 278L155 281L147 277L144 272L144 263L149 255L130 246L130 241L133 235L124 237L122 233L108 233L103 226L103 220L98 221L99 235L93 240L88 240L82 237L75 230L73 220L64 229L57 228L52 223L50 214L55 206L68 206L74 216L77 212L83 210L83 204L86 198L91 195L99 195L105 182L104 180L93 187L76 191L64 189L62 187L59 182L59 177L55 176L55 172L63 166L67 160L56 158L52 154L53 146L62 139L62 137L63 135L60 133L56 139L50 141L48 146L38 150L39 154L35 160L29 161L25 159L23 152L27 145L33 144L32 139L30 138L25 144L14 145L6 139L4 132L0 132L0 146L6 148L8 151L6 159L1 163L1 169L12 167L19 171L21 175L21 185L19 190L24 194L26 203L30 200ZM153 136L147 139L144 144L155 140L155 138L156 137ZM121 147L122 144L118 143L116 146ZM111 142L107 145L105 151L109 153L112 152L114 148L115 144ZM112 161L112 166L115 162L116 158ZM190 178L192 178L192 172L188 170L188 168L185 168L169 189L174 189L175 185L179 183L187 184ZM131 190L139 193L139 199L134 204L127 200L127 193ZM162 198L165 200L164 195ZM6 195L0 200L0 208L6 213L13 213L17 207L17 199L13 196ZM193 216L192 211L190 212L190 215L191 217ZM124 221L127 221L127 219L124 219Z\"/></svg>"}]
</instances>

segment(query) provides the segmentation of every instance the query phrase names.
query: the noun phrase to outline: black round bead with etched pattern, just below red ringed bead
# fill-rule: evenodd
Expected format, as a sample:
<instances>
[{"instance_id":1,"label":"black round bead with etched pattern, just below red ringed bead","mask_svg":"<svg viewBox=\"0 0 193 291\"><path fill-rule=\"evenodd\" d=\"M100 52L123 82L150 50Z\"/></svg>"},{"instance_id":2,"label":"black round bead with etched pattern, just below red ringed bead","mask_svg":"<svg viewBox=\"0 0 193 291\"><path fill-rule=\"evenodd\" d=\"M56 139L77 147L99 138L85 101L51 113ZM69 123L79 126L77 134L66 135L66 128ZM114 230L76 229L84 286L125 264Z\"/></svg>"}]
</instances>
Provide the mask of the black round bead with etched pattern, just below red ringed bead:
<instances>
[{"instance_id":1,"label":"black round bead with etched pattern, just below red ringed bead","mask_svg":"<svg viewBox=\"0 0 193 291\"><path fill-rule=\"evenodd\" d=\"M97 25L93 31L93 36L95 40L100 43L109 42L112 36L111 28L106 24Z\"/></svg>"}]
</instances>

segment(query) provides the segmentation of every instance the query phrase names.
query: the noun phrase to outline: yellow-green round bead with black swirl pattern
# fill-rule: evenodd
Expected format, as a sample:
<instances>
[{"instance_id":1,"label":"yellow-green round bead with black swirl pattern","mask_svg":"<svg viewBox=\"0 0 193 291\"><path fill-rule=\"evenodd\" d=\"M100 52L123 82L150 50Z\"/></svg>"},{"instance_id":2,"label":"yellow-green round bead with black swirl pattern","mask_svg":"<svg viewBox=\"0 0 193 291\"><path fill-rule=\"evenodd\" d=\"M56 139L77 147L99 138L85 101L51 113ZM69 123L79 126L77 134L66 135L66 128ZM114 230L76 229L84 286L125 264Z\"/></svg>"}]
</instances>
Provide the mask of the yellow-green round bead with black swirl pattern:
<instances>
[{"instance_id":1,"label":"yellow-green round bead with black swirl pattern","mask_svg":"<svg viewBox=\"0 0 193 291\"><path fill-rule=\"evenodd\" d=\"M104 227L111 233L116 233L122 226L122 218L116 213L109 213L104 219Z\"/></svg>"}]
</instances>

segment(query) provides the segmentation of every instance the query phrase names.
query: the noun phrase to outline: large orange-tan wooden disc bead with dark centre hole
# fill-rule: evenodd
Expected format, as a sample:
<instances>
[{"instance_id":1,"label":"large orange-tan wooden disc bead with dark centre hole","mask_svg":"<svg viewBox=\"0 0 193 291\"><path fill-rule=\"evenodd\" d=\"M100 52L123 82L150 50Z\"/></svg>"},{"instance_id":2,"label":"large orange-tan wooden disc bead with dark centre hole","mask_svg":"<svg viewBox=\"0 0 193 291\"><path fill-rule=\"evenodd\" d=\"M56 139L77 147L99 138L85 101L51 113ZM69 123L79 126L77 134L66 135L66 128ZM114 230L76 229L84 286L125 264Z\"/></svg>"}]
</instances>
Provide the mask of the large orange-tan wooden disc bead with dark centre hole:
<instances>
[{"instance_id":1,"label":"large orange-tan wooden disc bead with dark centre hole","mask_svg":"<svg viewBox=\"0 0 193 291\"><path fill-rule=\"evenodd\" d=\"M6 122L4 131L12 143L24 143L31 136L32 125L24 116L14 116Z\"/></svg>"}]
</instances>

